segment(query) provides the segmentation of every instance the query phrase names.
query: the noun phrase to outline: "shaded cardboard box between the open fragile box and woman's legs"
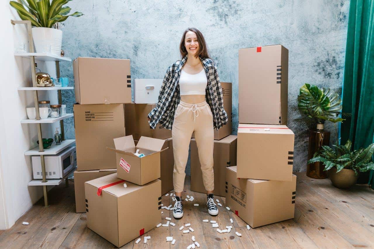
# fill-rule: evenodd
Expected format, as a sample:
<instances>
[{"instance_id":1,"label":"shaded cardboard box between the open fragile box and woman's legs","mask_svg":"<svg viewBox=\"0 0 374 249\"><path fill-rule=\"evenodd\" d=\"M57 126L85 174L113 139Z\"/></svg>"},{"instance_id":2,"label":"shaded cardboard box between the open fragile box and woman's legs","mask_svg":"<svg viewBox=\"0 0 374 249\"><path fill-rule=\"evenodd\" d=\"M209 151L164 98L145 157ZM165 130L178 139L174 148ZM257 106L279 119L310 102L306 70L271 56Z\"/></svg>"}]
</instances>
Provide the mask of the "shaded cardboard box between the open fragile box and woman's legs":
<instances>
[{"instance_id":1,"label":"shaded cardboard box between the open fragile box and woman's legs","mask_svg":"<svg viewBox=\"0 0 374 249\"><path fill-rule=\"evenodd\" d=\"M174 153L173 153L173 139L172 137L164 139L165 143L162 146L160 153L160 180L161 180L161 194L166 194L174 189L173 184L173 170L174 170ZM135 146L138 141L135 140ZM168 148L168 149L166 149ZM166 149L166 150L164 150Z\"/></svg>"}]
</instances>

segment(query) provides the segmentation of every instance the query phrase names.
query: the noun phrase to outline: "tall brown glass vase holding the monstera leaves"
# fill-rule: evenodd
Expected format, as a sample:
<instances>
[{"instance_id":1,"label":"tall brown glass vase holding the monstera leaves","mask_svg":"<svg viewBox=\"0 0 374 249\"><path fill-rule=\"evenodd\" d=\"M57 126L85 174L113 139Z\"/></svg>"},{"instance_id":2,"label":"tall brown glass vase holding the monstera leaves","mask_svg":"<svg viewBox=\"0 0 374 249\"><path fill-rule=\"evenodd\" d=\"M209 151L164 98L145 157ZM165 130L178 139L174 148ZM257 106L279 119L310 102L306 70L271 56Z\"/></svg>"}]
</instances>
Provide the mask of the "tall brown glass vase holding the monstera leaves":
<instances>
[{"instance_id":1,"label":"tall brown glass vase holding the monstera leaves","mask_svg":"<svg viewBox=\"0 0 374 249\"><path fill-rule=\"evenodd\" d=\"M316 130L311 130L309 133L308 146L308 160L311 159L314 153L321 148L322 145L329 145L330 132L324 131L323 124L317 124ZM327 171L324 171L325 166L322 162L315 162L307 165L306 175L315 179L327 178Z\"/></svg>"}]
</instances>

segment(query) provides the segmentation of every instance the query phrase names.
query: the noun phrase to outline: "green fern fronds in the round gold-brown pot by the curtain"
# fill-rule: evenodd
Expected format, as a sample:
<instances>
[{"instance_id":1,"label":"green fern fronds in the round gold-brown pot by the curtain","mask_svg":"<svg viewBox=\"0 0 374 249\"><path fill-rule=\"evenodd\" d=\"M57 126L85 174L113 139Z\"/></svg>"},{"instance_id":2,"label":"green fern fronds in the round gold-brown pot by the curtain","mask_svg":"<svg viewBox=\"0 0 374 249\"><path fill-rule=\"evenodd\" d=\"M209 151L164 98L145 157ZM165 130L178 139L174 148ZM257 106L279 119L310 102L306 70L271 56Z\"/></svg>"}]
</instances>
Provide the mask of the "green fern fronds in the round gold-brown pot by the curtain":
<instances>
[{"instance_id":1,"label":"green fern fronds in the round gold-brown pot by the curtain","mask_svg":"<svg viewBox=\"0 0 374 249\"><path fill-rule=\"evenodd\" d=\"M325 165L324 171L337 168L337 172L342 169L353 169L358 175L358 172L366 172L374 169L374 162L372 156L374 153L374 143L368 147L360 148L352 151L352 142L348 139L344 145L333 145L334 149L329 146L322 146L322 148L313 155L313 158L308 160L308 164L315 162L322 162Z\"/></svg>"}]
</instances>

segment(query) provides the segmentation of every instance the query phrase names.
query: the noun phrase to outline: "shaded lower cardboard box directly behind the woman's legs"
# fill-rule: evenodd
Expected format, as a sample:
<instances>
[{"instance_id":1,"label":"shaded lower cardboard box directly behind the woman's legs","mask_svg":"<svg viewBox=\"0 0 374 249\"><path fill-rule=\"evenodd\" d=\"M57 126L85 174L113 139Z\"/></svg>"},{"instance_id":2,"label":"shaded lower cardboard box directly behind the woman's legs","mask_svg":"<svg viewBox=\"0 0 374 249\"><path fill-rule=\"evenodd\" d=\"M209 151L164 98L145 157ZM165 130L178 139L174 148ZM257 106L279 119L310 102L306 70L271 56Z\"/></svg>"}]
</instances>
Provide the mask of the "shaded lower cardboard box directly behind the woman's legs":
<instances>
[{"instance_id":1,"label":"shaded lower cardboard box directly behind the woman's legs","mask_svg":"<svg viewBox=\"0 0 374 249\"><path fill-rule=\"evenodd\" d=\"M236 165L237 136L230 135L221 140L214 141L214 194L226 196L225 180L226 167ZM203 184L203 175L200 168L199 154L196 140L191 139L191 191L206 193Z\"/></svg>"}]
</instances>

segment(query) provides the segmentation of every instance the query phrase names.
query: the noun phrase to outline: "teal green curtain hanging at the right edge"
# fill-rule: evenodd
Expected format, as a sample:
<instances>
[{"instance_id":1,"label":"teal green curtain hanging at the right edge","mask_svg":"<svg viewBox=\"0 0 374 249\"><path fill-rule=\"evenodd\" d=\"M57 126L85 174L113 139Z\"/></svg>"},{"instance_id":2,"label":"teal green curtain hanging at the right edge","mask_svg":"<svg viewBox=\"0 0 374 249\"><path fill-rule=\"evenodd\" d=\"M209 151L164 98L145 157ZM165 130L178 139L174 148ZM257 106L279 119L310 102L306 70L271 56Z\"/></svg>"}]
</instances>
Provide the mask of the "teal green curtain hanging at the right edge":
<instances>
[{"instance_id":1,"label":"teal green curtain hanging at the right edge","mask_svg":"<svg viewBox=\"0 0 374 249\"><path fill-rule=\"evenodd\" d=\"M352 118L341 124L341 142L353 147L374 141L374 0L351 0L343 83L343 112ZM357 183L374 189L374 171L361 173Z\"/></svg>"}]
</instances>

